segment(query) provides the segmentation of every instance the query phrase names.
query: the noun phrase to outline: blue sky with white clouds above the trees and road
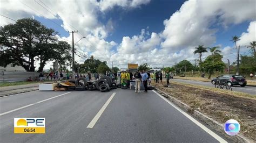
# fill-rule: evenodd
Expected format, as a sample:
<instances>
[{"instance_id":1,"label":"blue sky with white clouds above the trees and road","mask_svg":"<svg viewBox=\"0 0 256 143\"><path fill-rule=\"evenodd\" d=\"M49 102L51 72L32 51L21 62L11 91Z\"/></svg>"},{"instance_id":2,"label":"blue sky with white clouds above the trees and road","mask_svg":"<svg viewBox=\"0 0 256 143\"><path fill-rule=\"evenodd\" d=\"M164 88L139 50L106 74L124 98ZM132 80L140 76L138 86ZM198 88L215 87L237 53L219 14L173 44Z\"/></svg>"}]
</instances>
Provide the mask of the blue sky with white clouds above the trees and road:
<instances>
[{"instance_id":1,"label":"blue sky with white clouds above the trees and road","mask_svg":"<svg viewBox=\"0 0 256 143\"><path fill-rule=\"evenodd\" d=\"M255 8L255 0L0 0L1 15L14 20L33 17L68 42L68 31L78 31L75 42L86 37L75 47L78 54L93 55L109 66L113 61L119 68L145 62L172 66L184 59L194 63L198 45L220 46L224 62L233 62L233 35L240 36L238 45L256 40ZM15 23L3 16L0 25ZM242 47L241 54L248 49ZM78 55L75 59L86 60Z\"/></svg>"}]
</instances>

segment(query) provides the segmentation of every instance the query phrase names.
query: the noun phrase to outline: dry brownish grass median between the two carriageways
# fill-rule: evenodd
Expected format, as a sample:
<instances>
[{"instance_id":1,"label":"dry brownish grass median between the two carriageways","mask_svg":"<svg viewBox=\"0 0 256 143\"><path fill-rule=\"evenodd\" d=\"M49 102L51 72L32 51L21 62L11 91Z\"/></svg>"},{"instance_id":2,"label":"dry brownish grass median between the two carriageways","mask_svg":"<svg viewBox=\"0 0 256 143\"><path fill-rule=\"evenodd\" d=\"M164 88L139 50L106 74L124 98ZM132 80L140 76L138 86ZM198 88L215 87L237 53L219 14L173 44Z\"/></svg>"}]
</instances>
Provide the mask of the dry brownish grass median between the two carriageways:
<instances>
[{"instance_id":1,"label":"dry brownish grass median between the two carriageways","mask_svg":"<svg viewBox=\"0 0 256 143\"><path fill-rule=\"evenodd\" d=\"M171 83L172 88L163 87L162 84L152 85L186 103L191 111L198 110L220 123L224 124L228 119L237 120L241 126L240 133L256 140L256 99L174 83Z\"/></svg>"}]
</instances>

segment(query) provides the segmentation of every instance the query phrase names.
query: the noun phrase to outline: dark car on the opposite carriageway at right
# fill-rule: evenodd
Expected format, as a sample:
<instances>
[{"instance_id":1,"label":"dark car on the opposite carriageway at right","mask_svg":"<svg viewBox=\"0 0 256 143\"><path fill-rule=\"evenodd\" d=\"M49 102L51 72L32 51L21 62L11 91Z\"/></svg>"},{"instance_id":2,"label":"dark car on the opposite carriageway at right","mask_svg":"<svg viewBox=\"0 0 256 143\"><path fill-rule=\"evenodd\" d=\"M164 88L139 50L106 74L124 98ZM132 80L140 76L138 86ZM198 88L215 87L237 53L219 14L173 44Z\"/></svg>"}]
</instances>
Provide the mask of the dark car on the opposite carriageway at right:
<instances>
[{"instance_id":1,"label":"dark car on the opposite carriageway at right","mask_svg":"<svg viewBox=\"0 0 256 143\"><path fill-rule=\"evenodd\" d=\"M247 84L246 79L241 75L220 75L218 77L212 78L212 84L227 82L228 85L240 85L245 87Z\"/></svg>"}]
</instances>

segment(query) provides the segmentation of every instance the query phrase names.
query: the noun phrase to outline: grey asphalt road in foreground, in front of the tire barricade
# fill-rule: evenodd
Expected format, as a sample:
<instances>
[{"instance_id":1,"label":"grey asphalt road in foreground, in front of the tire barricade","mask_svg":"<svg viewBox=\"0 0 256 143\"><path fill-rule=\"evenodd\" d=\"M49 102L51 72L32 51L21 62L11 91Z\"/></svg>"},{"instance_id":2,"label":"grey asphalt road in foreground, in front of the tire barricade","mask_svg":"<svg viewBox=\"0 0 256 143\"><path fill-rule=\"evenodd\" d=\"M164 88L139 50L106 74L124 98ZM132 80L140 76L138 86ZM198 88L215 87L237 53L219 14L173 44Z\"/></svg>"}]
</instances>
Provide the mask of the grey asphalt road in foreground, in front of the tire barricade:
<instances>
[{"instance_id":1,"label":"grey asphalt road in foreground, in front of the tire barricade","mask_svg":"<svg viewBox=\"0 0 256 143\"><path fill-rule=\"evenodd\" d=\"M122 89L31 91L1 97L0 108L1 142L219 142L225 139L192 117L186 117L184 111L154 91L147 94ZM87 128L99 111L102 115L96 124ZM44 117L46 133L14 134L15 117Z\"/></svg>"}]
</instances>

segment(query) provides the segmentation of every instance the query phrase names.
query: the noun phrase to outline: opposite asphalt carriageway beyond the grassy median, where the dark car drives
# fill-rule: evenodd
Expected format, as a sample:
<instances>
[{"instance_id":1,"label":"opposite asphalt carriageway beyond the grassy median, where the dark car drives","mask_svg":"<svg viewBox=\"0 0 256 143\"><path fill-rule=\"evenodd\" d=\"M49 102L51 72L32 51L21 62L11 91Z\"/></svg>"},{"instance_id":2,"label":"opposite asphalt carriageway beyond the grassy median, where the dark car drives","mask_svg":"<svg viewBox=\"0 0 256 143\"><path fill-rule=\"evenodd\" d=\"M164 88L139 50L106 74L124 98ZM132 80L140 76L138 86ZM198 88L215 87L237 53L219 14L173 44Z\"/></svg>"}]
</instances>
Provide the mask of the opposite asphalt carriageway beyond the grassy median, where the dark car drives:
<instances>
[{"instance_id":1,"label":"opposite asphalt carriageway beyond the grassy median, where the dark car drives","mask_svg":"<svg viewBox=\"0 0 256 143\"><path fill-rule=\"evenodd\" d=\"M184 83L195 84L195 85L203 85L207 87L214 87L214 85L211 82L204 82L204 81L192 81L192 80L183 80L183 79L177 79L177 78L173 78L170 80L170 82L171 81L184 82ZM256 95L256 87L250 87L250 86L240 87L240 85L234 85L232 89L233 91L245 92L246 94Z\"/></svg>"}]
</instances>

